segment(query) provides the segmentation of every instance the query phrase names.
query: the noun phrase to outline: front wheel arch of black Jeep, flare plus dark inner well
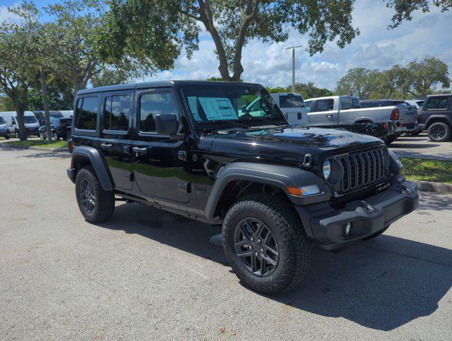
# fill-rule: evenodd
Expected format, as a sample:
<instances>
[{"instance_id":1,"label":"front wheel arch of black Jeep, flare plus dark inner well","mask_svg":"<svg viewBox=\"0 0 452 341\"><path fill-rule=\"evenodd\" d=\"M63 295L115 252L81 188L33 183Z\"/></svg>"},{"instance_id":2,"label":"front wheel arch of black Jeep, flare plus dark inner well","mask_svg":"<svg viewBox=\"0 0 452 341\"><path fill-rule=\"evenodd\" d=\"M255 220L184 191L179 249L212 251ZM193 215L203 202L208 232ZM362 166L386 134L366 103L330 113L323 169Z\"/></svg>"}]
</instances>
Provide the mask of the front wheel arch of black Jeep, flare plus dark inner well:
<instances>
[{"instance_id":1,"label":"front wheel arch of black Jeep, flare plus dark inner well","mask_svg":"<svg viewBox=\"0 0 452 341\"><path fill-rule=\"evenodd\" d=\"M318 185L320 192L308 197L297 197L287 191L287 186ZM327 201L329 190L321 179L310 171L265 163L229 163L215 181L206 202L208 219L224 216L228 207L240 197L255 193L280 195L294 205L309 205Z\"/></svg>"}]
</instances>

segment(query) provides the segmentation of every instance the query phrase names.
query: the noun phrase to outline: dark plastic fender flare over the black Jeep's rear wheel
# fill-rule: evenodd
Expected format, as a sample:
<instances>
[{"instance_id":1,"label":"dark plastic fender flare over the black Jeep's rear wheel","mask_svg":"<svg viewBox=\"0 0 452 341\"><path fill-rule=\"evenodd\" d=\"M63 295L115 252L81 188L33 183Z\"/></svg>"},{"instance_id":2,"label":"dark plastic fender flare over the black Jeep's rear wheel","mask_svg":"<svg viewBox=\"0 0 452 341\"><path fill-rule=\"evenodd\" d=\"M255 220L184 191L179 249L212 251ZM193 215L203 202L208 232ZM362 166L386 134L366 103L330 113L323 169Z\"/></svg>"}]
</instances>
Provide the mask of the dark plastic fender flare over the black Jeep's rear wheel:
<instances>
[{"instance_id":1,"label":"dark plastic fender flare over the black Jeep's rear wheel","mask_svg":"<svg viewBox=\"0 0 452 341\"><path fill-rule=\"evenodd\" d=\"M113 181L111 181L108 166L106 165L103 156L101 156L101 153L99 153L96 148L89 146L79 146L74 148L74 151L72 151L71 168L75 168L75 161L77 160L77 156L88 158L104 190L114 190Z\"/></svg>"}]
</instances>

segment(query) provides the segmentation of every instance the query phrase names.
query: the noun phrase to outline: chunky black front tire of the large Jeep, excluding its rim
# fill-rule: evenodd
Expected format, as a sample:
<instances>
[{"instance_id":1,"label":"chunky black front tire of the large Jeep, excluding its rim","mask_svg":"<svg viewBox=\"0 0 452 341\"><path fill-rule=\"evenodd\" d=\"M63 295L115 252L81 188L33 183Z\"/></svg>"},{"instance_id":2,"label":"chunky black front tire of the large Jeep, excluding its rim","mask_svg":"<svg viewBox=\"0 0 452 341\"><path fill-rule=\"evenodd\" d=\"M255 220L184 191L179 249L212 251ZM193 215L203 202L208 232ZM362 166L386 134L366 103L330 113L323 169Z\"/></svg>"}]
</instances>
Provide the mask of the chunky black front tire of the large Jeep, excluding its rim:
<instances>
[{"instance_id":1,"label":"chunky black front tire of the large Jeep, excluding its rim","mask_svg":"<svg viewBox=\"0 0 452 341\"><path fill-rule=\"evenodd\" d=\"M254 217L264 222L275 235L279 261L269 276L251 274L234 251L234 232L241 220ZM236 202L223 222L224 253L236 276L260 293L277 294L297 286L309 268L309 240L297 212L282 197L250 195Z\"/></svg>"}]
</instances>

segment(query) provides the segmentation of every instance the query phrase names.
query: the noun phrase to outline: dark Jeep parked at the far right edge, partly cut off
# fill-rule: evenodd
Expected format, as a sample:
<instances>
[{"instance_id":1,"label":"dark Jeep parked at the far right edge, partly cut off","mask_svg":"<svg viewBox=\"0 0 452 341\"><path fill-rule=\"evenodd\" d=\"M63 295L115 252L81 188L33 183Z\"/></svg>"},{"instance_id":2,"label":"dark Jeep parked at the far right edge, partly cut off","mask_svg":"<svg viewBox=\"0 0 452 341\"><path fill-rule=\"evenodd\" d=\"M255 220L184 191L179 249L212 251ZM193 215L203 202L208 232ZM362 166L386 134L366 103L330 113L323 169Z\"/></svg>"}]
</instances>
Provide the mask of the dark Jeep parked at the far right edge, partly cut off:
<instances>
[{"instance_id":1,"label":"dark Jeep parked at the far right edge, partly cut off","mask_svg":"<svg viewBox=\"0 0 452 341\"><path fill-rule=\"evenodd\" d=\"M418 116L419 126L431 141L443 142L452 135L452 94L427 96Z\"/></svg>"}]
</instances>

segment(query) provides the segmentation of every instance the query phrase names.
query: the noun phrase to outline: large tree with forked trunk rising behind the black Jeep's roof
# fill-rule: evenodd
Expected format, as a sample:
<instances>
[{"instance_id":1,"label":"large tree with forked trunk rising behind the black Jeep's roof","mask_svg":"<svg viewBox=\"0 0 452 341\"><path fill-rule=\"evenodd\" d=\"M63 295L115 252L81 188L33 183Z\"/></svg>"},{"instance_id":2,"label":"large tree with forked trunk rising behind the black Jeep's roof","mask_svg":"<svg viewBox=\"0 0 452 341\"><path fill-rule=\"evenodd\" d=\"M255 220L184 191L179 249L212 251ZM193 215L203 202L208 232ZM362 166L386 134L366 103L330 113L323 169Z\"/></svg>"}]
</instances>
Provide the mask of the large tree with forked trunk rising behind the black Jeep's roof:
<instances>
[{"instance_id":1,"label":"large tree with forked trunk rising behind the black Jeep's roof","mask_svg":"<svg viewBox=\"0 0 452 341\"><path fill-rule=\"evenodd\" d=\"M168 70L182 49L190 58L200 26L214 40L222 80L239 80L242 50L252 39L287 40L291 29L309 35L307 50L321 52L327 41L343 48L359 33L351 24L353 0L112 0L104 55L124 54L150 70Z\"/></svg>"}]
</instances>

